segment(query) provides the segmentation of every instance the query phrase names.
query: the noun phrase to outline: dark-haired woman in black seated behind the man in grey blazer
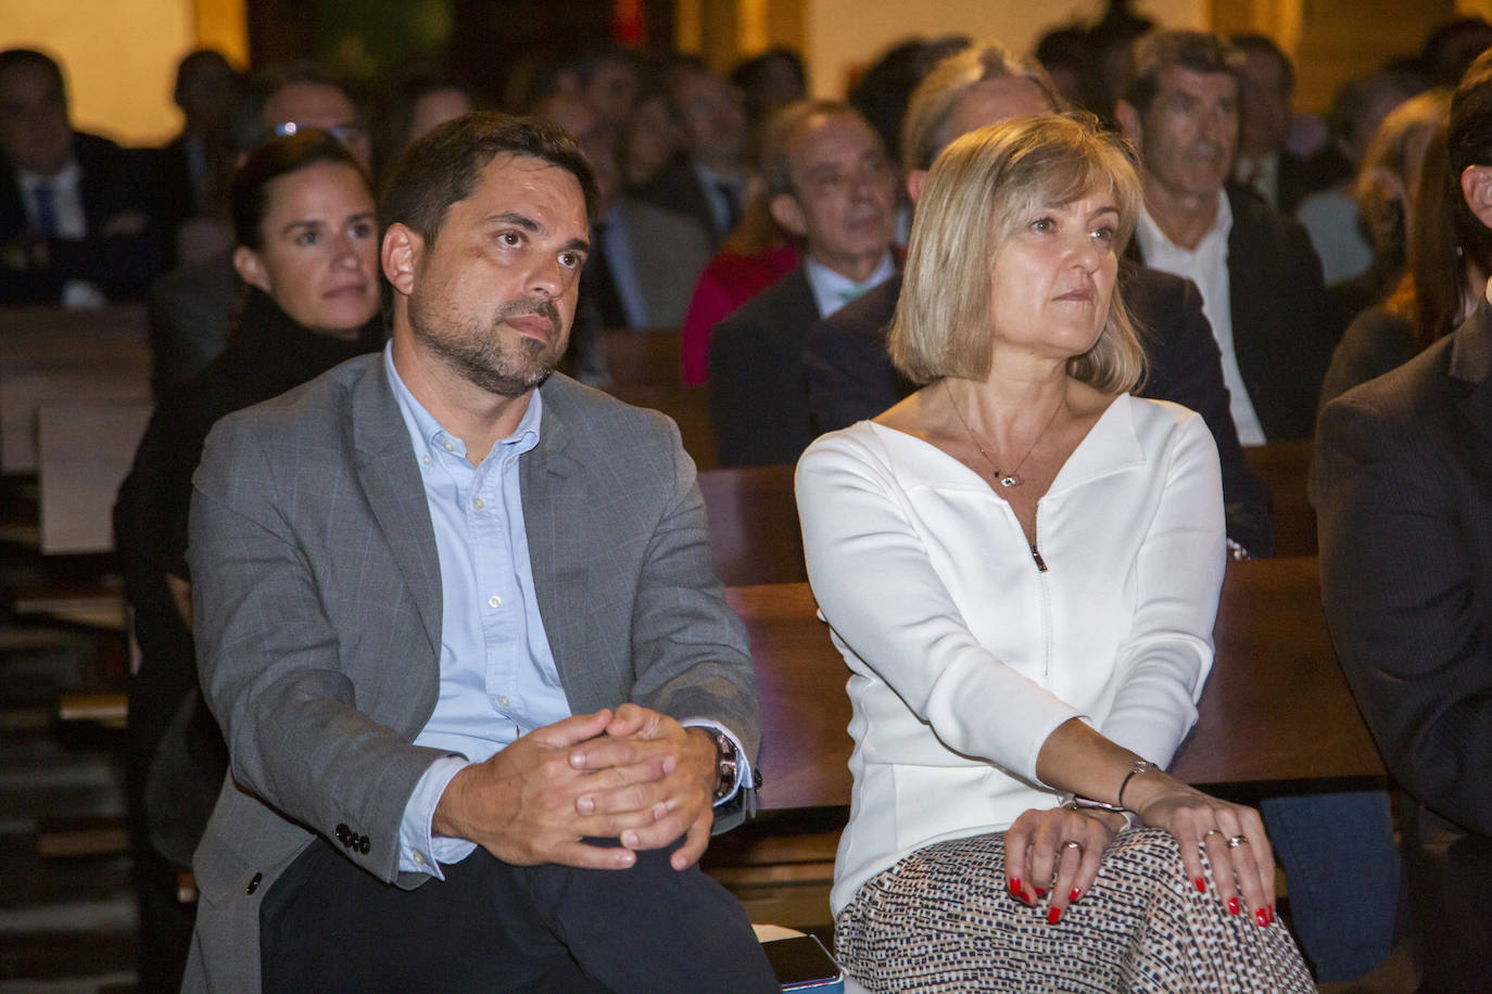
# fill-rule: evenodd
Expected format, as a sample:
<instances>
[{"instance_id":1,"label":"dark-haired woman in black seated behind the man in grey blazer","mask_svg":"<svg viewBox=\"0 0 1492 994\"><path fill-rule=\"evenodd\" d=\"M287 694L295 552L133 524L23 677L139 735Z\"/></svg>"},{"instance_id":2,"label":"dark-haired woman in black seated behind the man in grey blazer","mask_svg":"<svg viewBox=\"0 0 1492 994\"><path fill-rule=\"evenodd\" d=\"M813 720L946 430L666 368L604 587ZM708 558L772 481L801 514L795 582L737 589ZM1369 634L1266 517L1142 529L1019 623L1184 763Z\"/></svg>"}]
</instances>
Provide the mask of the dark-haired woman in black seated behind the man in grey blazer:
<instances>
[{"instance_id":1,"label":"dark-haired woman in black seated behind the man in grey blazer","mask_svg":"<svg viewBox=\"0 0 1492 994\"><path fill-rule=\"evenodd\" d=\"M140 647L130 686L128 800L146 991L181 985L194 915L176 899L176 870L191 863L228 769L222 733L197 688L185 560L203 440L224 414L383 340L373 188L337 139L306 130L266 142L234 174L231 204L243 286L228 346L160 399L115 505Z\"/></svg>"}]
</instances>

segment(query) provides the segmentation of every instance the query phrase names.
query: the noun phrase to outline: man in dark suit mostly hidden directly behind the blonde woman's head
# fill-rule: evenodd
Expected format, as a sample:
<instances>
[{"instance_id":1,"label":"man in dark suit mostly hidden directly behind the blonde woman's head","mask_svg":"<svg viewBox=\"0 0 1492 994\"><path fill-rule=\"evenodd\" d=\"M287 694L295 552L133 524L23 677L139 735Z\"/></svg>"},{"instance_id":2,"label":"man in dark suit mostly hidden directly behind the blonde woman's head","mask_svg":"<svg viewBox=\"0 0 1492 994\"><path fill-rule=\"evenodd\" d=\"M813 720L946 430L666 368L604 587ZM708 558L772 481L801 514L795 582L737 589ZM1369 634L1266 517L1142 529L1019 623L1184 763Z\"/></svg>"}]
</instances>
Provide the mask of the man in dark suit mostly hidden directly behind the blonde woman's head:
<instances>
[{"instance_id":1,"label":"man in dark suit mostly hidden directly behind the blonde woman's head","mask_svg":"<svg viewBox=\"0 0 1492 994\"><path fill-rule=\"evenodd\" d=\"M977 127L1058 107L1046 73L1015 60L998 45L979 45L944 58L912 97L903 137L907 192L916 201L922 179L943 148ZM1125 303L1140 325L1150 362L1143 395L1198 411L1222 460L1228 538L1238 554L1274 551L1270 495L1243 460L1228 414L1217 346L1201 313L1201 297L1186 280L1120 264ZM886 328L901 294L892 277L821 320L809 335L804 368L809 407L819 432L874 417L915 387L886 356Z\"/></svg>"}]
</instances>

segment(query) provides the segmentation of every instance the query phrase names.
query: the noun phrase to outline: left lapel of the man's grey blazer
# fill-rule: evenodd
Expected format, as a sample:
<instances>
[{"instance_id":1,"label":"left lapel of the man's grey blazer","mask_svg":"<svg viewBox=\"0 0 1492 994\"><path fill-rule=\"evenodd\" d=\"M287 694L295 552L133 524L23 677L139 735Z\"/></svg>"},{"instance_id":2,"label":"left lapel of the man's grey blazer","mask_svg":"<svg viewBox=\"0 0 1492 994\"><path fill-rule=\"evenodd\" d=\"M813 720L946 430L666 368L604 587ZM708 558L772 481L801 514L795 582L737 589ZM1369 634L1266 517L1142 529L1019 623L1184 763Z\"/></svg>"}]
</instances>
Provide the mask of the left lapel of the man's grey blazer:
<instances>
[{"instance_id":1,"label":"left lapel of the man's grey blazer","mask_svg":"<svg viewBox=\"0 0 1492 994\"><path fill-rule=\"evenodd\" d=\"M363 492L439 659L442 595L436 529L382 353L373 374L360 379L352 389L352 432Z\"/></svg>"}]
</instances>

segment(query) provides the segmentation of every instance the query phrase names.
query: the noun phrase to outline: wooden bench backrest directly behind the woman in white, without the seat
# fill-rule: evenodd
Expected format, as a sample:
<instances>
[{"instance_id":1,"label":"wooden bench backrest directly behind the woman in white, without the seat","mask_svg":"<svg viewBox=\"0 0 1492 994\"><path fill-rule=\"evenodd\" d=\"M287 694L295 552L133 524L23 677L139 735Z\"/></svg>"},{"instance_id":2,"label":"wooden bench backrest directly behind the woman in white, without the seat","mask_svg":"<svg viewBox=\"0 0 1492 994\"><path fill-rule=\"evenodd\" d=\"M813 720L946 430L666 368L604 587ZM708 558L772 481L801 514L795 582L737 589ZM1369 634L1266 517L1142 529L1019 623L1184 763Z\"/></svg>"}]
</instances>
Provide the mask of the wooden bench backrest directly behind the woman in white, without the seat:
<instances>
[{"instance_id":1,"label":"wooden bench backrest directly behind the woman in white, without the seat","mask_svg":"<svg viewBox=\"0 0 1492 994\"><path fill-rule=\"evenodd\" d=\"M807 584L727 592L750 632L762 708L761 806L849 803L849 671ZM1171 765L1192 784L1382 776L1341 677L1314 559L1231 563L1200 718Z\"/></svg>"}]
</instances>

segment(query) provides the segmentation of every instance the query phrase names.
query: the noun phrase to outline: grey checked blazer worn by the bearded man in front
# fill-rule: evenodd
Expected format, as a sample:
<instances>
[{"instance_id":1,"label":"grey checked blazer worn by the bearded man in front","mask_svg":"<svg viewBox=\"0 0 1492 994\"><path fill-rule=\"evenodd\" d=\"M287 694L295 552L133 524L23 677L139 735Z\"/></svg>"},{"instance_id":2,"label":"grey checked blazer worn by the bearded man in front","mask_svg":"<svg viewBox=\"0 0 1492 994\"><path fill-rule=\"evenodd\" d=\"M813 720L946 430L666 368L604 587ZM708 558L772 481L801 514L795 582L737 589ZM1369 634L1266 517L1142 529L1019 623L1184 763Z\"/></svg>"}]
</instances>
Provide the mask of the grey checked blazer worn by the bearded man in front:
<instances>
[{"instance_id":1,"label":"grey checked blazer worn by the bearded man in front","mask_svg":"<svg viewBox=\"0 0 1492 994\"><path fill-rule=\"evenodd\" d=\"M539 608L576 712L633 700L759 742L740 620L710 565L694 463L655 411L554 376L521 466ZM185 990L260 987L260 900L315 835L382 881L442 753L440 569L382 353L221 420L188 560L203 691L233 756L197 849Z\"/></svg>"}]
</instances>

